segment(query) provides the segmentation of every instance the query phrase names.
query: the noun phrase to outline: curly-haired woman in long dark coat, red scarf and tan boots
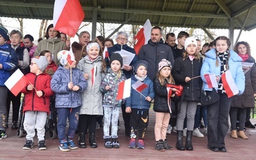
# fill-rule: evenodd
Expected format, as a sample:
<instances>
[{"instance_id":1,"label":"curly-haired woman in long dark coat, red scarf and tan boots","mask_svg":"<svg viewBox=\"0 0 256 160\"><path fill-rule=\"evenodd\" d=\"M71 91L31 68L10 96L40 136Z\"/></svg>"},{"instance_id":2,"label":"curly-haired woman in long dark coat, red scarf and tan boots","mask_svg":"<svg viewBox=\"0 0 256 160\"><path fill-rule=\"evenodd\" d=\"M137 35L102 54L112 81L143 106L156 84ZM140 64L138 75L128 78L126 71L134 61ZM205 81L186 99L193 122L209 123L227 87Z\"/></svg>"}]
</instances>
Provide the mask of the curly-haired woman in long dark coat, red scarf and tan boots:
<instances>
[{"instance_id":1,"label":"curly-haired woman in long dark coat, red scarf and tan boots","mask_svg":"<svg viewBox=\"0 0 256 160\"><path fill-rule=\"evenodd\" d=\"M255 100L253 95L256 93L256 67L255 60L251 56L250 45L247 42L237 42L234 51L237 52L244 62L253 63L253 66L248 70L245 76L245 89L242 95L235 95L232 99L230 108L230 122L231 122L231 138L237 138L236 120L237 112L239 112L239 134L238 136L243 139L248 139L244 134L244 123L246 120L246 110L254 108ZM250 120L249 120L250 122ZM252 125L255 127L254 125Z\"/></svg>"}]
</instances>

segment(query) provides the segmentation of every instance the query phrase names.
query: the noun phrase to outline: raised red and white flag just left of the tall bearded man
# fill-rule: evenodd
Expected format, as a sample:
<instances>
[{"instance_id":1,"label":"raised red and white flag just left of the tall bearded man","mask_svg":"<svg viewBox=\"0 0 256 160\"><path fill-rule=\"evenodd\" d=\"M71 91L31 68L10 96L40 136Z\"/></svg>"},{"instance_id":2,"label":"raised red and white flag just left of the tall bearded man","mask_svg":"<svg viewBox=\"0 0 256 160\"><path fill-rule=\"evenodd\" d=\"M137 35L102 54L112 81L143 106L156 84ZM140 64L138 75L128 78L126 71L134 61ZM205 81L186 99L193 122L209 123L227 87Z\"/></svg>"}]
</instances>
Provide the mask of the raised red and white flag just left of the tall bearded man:
<instances>
[{"instance_id":1,"label":"raised red and white flag just left of the tall bearded man","mask_svg":"<svg viewBox=\"0 0 256 160\"><path fill-rule=\"evenodd\" d=\"M134 37L135 40L138 40L137 43L134 45L134 50L137 55L139 54L142 45L148 44L148 40L150 40L151 36L151 29L152 26L150 20L148 19L143 25L143 28L141 28L137 35Z\"/></svg>"}]
</instances>

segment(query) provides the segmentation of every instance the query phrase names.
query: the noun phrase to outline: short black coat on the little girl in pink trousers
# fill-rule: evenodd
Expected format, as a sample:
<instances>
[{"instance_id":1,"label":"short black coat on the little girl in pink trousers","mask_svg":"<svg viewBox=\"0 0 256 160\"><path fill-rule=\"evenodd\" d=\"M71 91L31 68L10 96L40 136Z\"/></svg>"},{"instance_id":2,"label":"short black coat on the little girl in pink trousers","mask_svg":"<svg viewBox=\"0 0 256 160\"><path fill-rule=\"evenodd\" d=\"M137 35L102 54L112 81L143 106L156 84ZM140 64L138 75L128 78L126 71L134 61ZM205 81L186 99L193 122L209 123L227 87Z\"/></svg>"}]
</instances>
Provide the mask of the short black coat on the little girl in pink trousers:
<instances>
[{"instance_id":1,"label":"short black coat on the little girl in pink trousers","mask_svg":"<svg viewBox=\"0 0 256 160\"><path fill-rule=\"evenodd\" d=\"M154 92L155 92L155 99L154 99L154 111L156 112L170 112L168 108L168 92L166 90L165 85L161 85L160 81L157 77L154 78ZM167 81L165 82L165 84ZM179 97L175 95L171 97L171 109L172 111L175 110L174 102L179 100Z\"/></svg>"}]
</instances>

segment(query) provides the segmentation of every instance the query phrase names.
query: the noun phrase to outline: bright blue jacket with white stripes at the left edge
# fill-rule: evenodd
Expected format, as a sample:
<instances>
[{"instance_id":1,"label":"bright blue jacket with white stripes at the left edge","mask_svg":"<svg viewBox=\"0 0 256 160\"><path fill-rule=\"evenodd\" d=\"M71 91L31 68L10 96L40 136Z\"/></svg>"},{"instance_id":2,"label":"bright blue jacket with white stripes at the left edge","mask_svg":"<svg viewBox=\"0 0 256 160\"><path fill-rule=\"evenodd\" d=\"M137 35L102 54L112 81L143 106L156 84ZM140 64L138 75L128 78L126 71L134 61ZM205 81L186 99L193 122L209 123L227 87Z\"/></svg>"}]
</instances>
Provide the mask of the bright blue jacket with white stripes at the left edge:
<instances>
[{"instance_id":1,"label":"bright blue jacket with white stripes at the left edge","mask_svg":"<svg viewBox=\"0 0 256 160\"><path fill-rule=\"evenodd\" d=\"M4 86L5 81L11 76L12 70L18 65L18 57L10 44L0 45L0 86Z\"/></svg>"}]
</instances>

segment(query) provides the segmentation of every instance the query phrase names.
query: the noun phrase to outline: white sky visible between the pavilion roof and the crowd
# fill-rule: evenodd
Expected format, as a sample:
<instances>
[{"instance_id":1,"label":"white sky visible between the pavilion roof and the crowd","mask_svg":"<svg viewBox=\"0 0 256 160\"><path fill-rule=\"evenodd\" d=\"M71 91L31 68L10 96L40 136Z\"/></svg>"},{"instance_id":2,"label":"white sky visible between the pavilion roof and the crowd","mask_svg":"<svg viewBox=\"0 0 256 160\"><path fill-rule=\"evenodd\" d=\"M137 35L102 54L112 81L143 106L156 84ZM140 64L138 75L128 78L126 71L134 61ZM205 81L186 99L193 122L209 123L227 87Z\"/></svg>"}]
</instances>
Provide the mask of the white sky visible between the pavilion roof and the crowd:
<instances>
[{"instance_id":1,"label":"white sky visible between the pavilion roof and the crowd","mask_svg":"<svg viewBox=\"0 0 256 160\"><path fill-rule=\"evenodd\" d=\"M0 22L3 24L4 27L8 29L8 31L12 31L13 29L19 29L19 22L17 19L12 19L12 18L5 18L5 17L0 17ZM38 39L38 31L40 28L40 23L41 20L35 20L35 19L24 19L23 20L23 26L24 26L24 31L23 34L30 34L34 37L35 40ZM48 25L52 24L52 20L49 20ZM113 26L113 25L111 25ZM116 28L119 26L119 24L116 24ZM123 28L119 29L119 31L127 31L127 29L130 28L131 25L125 25ZM142 26L141 26L142 27ZM86 26L84 27L81 31L89 31L89 33L92 32L92 26ZM107 30L107 29L106 29ZM217 36L227 36L228 37L228 29L214 29L215 34ZM109 31L106 33L108 36L112 31ZM175 35L178 35L179 31L174 32ZM234 42L236 42L237 35L239 34L239 30L234 31ZM97 36L100 35L99 33L96 34ZM251 31L242 31L241 36L238 40L239 41L245 41L250 44L251 47L251 53L254 58L256 58L256 45L255 45L255 35L256 35L256 29L253 29ZM114 35L115 36L115 35ZM113 37L112 37L113 38ZM78 41L77 36L74 38L71 38L71 42ZM114 40L115 42L115 40ZM202 42L202 45L204 42Z\"/></svg>"}]
</instances>

